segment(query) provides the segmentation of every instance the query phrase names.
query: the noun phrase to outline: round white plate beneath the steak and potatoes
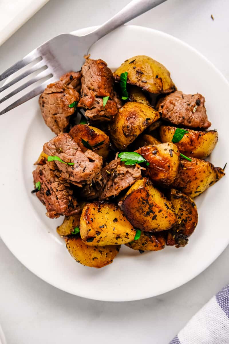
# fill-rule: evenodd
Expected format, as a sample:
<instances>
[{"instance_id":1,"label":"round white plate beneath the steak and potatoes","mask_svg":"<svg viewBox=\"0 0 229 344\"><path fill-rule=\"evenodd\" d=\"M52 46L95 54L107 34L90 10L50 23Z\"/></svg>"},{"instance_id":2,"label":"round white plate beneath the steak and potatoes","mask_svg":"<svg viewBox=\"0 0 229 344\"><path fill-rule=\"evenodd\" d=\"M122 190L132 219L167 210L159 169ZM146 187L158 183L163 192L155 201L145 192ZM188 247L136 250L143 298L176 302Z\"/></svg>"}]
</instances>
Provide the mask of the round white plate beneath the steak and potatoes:
<instances>
[{"instance_id":1,"label":"round white plate beneath the steak and potatoes","mask_svg":"<svg viewBox=\"0 0 229 344\"><path fill-rule=\"evenodd\" d=\"M89 29L78 31L82 34ZM204 56L180 40L139 26L126 25L91 49L112 69L138 54L164 64L178 89L202 93L219 141L210 161L229 162L228 94L224 76ZM185 248L165 247L159 252L121 248L111 265L93 269L77 264L56 233L61 219L45 216L33 189L33 162L44 142L53 137L45 126L37 98L0 118L1 228L0 235L13 254L37 276L69 293L96 300L129 301L149 298L181 286L206 269L226 248L229 231L228 176L195 199L199 222Z\"/></svg>"}]
</instances>

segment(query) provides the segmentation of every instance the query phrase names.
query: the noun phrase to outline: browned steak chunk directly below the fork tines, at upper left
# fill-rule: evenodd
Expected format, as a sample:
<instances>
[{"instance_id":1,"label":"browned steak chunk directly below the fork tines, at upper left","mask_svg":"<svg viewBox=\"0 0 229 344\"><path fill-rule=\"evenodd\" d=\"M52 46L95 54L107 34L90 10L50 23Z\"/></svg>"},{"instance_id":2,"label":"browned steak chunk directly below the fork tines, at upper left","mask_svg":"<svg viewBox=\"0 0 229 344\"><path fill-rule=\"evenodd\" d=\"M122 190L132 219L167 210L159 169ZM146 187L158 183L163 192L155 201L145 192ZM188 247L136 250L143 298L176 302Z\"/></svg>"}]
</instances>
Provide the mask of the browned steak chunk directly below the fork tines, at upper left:
<instances>
[{"instance_id":1,"label":"browned steak chunk directly below the fork tines, at upper left","mask_svg":"<svg viewBox=\"0 0 229 344\"><path fill-rule=\"evenodd\" d=\"M75 107L69 107L74 101L79 101L77 92L80 88L80 72L70 72L60 77L60 80L49 84L39 97L39 106L46 125L56 135L67 130L70 116Z\"/></svg>"}]
</instances>

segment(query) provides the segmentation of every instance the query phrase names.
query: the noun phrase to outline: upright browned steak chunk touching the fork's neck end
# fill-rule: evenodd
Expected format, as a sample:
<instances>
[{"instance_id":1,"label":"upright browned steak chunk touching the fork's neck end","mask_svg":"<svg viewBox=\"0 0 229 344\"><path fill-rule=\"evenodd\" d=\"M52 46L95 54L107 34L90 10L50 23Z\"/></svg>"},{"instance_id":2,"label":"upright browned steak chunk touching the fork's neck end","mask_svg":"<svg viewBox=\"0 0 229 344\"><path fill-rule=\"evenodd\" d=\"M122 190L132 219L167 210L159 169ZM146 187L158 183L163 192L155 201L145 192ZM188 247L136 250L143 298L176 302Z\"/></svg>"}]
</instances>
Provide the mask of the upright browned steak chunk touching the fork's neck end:
<instances>
[{"instance_id":1,"label":"upright browned steak chunk touching the fork's neck end","mask_svg":"<svg viewBox=\"0 0 229 344\"><path fill-rule=\"evenodd\" d=\"M81 99L78 107L87 109L90 120L110 121L117 114L121 101L114 93L114 76L103 60L87 58L82 66ZM103 97L109 97L105 109ZM118 105L116 104L118 103ZM121 105L122 106L122 105Z\"/></svg>"}]
</instances>

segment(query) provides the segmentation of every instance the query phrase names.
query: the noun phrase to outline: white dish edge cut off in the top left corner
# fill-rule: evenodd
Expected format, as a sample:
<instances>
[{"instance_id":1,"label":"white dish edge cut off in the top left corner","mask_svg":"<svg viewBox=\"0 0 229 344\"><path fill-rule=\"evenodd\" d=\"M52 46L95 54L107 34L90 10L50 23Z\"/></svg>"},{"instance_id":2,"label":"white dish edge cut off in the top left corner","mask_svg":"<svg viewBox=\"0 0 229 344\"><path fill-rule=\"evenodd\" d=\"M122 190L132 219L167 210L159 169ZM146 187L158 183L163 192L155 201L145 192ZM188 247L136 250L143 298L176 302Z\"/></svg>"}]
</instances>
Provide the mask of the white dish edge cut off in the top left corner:
<instances>
[{"instance_id":1,"label":"white dish edge cut off in the top left corner","mask_svg":"<svg viewBox=\"0 0 229 344\"><path fill-rule=\"evenodd\" d=\"M48 0L1 0L0 45L30 19Z\"/></svg>"}]
</instances>

